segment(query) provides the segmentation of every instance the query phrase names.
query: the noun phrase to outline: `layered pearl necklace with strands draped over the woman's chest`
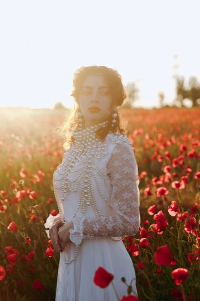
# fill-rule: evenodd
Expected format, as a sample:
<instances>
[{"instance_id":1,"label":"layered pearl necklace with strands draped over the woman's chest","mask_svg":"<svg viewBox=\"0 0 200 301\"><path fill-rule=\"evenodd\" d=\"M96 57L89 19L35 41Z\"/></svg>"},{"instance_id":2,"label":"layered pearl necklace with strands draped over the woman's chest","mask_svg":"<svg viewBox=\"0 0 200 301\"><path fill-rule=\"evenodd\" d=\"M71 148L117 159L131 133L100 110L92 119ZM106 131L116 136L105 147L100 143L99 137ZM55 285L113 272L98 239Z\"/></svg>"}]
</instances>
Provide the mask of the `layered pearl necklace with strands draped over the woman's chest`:
<instances>
[{"instance_id":1,"label":"layered pearl necklace with strands draped over the woman's chest","mask_svg":"<svg viewBox=\"0 0 200 301\"><path fill-rule=\"evenodd\" d=\"M108 205L110 205L109 202L106 200L106 198L102 195L97 179L92 172L92 170L94 169L103 179L108 180L104 177L104 174L94 162L94 158L100 160L101 154L103 155L107 154L106 140L101 140L99 137L95 135L95 130L97 130L100 127L105 127L107 123L108 121L104 121L102 123L98 123L95 126L91 126L86 129L76 128L75 130L73 130L72 133L74 137L74 143L64 153L62 163L57 167L56 171L53 173L53 190L57 202L57 207L60 213L60 219L63 223L66 223L66 221L64 218L64 214L60 208L61 203L58 197L57 190L61 189L61 202L63 202L69 191L75 192L77 190L81 179L83 179L83 182L82 182L82 189L80 193L80 200L72 217L75 216L76 212L78 211L78 208L80 209L82 215L85 216L85 204L87 206L90 206L90 204L92 204L96 216L103 217L96 204L95 196L93 195L93 190L92 190L91 180L90 180L92 176L95 179L96 186L102 198L105 200L105 202ZM115 143L119 143L119 140L123 140L131 144L127 136L124 136L119 132L115 132L113 134L112 141ZM83 163L84 163L83 167L80 167L79 169L76 170L72 170L77 164L83 164ZM73 181L71 181L71 182L77 181L75 190L72 190L70 188L70 183L67 178L68 173L69 172L74 173L80 170L82 171L78 174L78 176ZM61 181L62 182L61 186L56 186L56 181ZM120 239L114 239L112 237L108 237L108 238L115 241L121 240L121 238ZM79 247L80 244L77 245L77 250L74 257L68 262L64 261L65 263L69 264L75 259ZM62 254L60 252L60 256L61 255Z\"/></svg>"}]
</instances>

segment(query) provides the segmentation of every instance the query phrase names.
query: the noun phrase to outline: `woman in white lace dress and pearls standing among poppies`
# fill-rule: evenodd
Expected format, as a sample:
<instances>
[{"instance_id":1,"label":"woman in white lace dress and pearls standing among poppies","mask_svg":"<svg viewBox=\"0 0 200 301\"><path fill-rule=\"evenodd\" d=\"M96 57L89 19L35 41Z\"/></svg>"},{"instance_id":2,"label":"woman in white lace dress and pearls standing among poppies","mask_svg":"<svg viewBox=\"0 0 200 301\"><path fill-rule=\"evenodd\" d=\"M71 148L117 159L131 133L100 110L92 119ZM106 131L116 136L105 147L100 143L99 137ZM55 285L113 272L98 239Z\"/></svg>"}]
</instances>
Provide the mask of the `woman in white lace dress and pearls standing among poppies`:
<instances>
[{"instance_id":1,"label":"woman in white lace dress and pearls standing among poppies","mask_svg":"<svg viewBox=\"0 0 200 301\"><path fill-rule=\"evenodd\" d=\"M135 278L121 240L135 235L140 225L134 148L116 111L126 94L120 75L104 66L78 69L73 87L77 108L58 130L65 138L66 152L53 174L59 214L50 214L44 224L60 252L55 300L115 301L111 283L100 288L93 278L99 266L112 273L120 299L127 295L121 277L127 284ZM131 285L137 296L135 279Z\"/></svg>"}]
</instances>

